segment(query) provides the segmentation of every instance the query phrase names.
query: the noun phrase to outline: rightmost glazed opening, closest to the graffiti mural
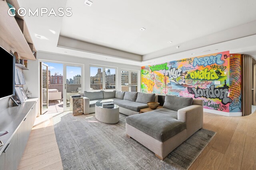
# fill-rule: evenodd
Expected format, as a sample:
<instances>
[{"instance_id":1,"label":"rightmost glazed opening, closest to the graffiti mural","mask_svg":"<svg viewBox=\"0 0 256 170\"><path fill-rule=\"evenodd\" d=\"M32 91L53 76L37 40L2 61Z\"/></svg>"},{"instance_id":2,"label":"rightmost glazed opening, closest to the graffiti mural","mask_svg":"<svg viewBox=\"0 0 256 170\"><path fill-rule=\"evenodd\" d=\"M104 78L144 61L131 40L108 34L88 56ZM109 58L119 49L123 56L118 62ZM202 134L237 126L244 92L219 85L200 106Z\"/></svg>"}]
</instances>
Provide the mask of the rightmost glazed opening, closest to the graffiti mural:
<instances>
[{"instance_id":1,"label":"rightmost glazed opening, closest to the graffiti mural","mask_svg":"<svg viewBox=\"0 0 256 170\"><path fill-rule=\"evenodd\" d=\"M121 70L122 91L138 92L138 71Z\"/></svg>"}]
</instances>

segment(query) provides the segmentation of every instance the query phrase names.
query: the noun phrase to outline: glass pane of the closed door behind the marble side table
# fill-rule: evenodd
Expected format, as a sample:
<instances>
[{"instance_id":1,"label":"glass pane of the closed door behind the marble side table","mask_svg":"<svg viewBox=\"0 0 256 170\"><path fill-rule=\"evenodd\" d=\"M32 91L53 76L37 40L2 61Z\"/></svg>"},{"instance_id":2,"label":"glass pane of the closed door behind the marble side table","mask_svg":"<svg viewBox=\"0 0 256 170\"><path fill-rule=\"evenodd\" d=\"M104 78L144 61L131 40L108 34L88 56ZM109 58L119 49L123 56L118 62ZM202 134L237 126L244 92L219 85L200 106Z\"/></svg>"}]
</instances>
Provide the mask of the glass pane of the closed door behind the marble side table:
<instances>
[{"instance_id":1,"label":"glass pane of the closed door behind the marble side table","mask_svg":"<svg viewBox=\"0 0 256 170\"><path fill-rule=\"evenodd\" d=\"M70 107L70 96L79 94L82 91L81 74L81 67L66 66L66 107Z\"/></svg>"}]
</instances>

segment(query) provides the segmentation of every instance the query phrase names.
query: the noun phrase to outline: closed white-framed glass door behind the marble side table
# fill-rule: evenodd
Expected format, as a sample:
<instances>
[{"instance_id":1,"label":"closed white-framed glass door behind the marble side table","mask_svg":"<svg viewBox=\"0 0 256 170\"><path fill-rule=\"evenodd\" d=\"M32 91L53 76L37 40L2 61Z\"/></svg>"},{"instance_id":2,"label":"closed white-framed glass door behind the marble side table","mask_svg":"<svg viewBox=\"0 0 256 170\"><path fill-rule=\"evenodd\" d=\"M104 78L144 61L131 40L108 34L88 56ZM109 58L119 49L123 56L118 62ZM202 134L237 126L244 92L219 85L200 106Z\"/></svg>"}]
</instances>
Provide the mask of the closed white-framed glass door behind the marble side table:
<instances>
[{"instance_id":1,"label":"closed white-framed glass door behind the marble side table","mask_svg":"<svg viewBox=\"0 0 256 170\"><path fill-rule=\"evenodd\" d=\"M70 96L82 93L84 76L82 66L64 64L63 109L70 110Z\"/></svg>"}]
</instances>

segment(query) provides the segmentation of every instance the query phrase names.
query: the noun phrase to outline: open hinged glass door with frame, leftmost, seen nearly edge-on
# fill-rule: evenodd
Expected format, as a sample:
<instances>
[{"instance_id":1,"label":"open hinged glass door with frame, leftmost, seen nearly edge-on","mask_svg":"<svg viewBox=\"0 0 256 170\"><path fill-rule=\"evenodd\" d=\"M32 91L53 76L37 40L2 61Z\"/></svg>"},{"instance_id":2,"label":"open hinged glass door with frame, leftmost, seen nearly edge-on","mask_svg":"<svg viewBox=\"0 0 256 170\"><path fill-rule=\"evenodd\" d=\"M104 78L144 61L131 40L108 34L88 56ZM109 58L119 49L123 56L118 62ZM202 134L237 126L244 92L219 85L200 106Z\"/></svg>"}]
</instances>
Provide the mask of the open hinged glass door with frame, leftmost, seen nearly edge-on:
<instances>
[{"instance_id":1,"label":"open hinged glass door with frame, leftmost, seen nearly edge-on","mask_svg":"<svg viewBox=\"0 0 256 170\"><path fill-rule=\"evenodd\" d=\"M48 65L40 62L40 114L48 109Z\"/></svg>"}]
</instances>

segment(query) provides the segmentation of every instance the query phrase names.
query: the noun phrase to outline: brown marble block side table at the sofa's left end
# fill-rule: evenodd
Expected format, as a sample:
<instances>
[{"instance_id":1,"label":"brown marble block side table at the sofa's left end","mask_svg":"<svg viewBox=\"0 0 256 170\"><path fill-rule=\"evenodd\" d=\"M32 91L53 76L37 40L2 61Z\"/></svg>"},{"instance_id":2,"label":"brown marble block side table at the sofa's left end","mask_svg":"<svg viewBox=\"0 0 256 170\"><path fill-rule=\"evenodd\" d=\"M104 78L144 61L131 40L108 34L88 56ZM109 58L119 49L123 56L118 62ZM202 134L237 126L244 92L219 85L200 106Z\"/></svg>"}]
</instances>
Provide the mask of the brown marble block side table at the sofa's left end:
<instances>
[{"instance_id":1,"label":"brown marble block side table at the sofa's left end","mask_svg":"<svg viewBox=\"0 0 256 170\"><path fill-rule=\"evenodd\" d=\"M70 97L70 107L73 110L73 116L84 114L84 97Z\"/></svg>"}]
</instances>

